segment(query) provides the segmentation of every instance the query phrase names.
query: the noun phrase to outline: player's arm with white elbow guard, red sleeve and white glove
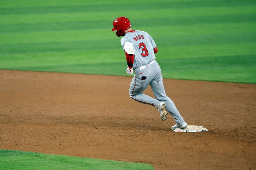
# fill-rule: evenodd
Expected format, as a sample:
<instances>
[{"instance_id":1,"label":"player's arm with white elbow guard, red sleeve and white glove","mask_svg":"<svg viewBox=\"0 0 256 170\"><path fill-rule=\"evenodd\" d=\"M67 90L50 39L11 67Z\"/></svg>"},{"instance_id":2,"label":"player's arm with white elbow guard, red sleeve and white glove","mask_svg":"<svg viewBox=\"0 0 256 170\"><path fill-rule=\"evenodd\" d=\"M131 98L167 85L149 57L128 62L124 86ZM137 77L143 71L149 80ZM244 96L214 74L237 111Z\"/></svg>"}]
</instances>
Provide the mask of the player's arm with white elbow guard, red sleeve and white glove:
<instances>
[{"instance_id":1,"label":"player's arm with white elbow guard, red sleeve and white glove","mask_svg":"<svg viewBox=\"0 0 256 170\"><path fill-rule=\"evenodd\" d=\"M132 67L134 63L134 50L131 42L124 43L124 52L126 56L127 66L128 66L126 72L128 74L132 74L133 73Z\"/></svg>"}]
</instances>

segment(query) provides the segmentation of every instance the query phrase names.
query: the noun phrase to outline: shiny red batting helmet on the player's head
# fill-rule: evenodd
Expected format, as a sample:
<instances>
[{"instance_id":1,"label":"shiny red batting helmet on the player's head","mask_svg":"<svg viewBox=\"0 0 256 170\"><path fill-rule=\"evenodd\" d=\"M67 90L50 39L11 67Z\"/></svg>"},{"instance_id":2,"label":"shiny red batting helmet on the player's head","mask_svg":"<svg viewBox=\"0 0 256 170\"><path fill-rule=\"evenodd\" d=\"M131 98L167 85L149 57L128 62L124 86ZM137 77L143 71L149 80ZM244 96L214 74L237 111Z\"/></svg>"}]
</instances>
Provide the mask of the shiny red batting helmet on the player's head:
<instances>
[{"instance_id":1,"label":"shiny red batting helmet on the player's head","mask_svg":"<svg viewBox=\"0 0 256 170\"><path fill-rule=\"evenodd\" d=\"M128 18L118 17L113 21L113 26L114 28L112 29L112 31L116 31L116 35L120 37L124 36L124 32L132 25Z\"/></svg>"}]
</instances>

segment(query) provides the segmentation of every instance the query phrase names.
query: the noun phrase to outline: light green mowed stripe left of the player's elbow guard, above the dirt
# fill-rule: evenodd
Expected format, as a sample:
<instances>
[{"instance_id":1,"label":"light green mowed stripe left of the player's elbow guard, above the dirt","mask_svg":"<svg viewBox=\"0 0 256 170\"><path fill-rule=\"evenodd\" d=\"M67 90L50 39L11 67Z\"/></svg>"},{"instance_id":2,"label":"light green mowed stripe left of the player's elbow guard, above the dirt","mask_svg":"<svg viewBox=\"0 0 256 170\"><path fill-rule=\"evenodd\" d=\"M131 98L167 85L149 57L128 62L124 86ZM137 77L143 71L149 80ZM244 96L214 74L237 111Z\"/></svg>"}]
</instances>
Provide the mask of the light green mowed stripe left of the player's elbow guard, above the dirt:
<instances>
[{"instance_id":1,"label":"light green mowed stripe left of the player's elbow guard, above the dirt","mask_svg":"<svg viewBox=\"0 0 256 170\"><path fill-rule=\"evenodd\" d=\"M16 61L16 62L15 62ZM38 62L40 61L40 62ZM52 66L68 65L79 63L123 63L125 62L124 52L116 50L99 50L95 51L68 51L68 52L48 52L34 54L7 54L0 57L0 68L11 69L21 66ZM104 66L103 66L104 67ZM92 70L93 71L93 70Z\"/></svg>"}]
</instances>

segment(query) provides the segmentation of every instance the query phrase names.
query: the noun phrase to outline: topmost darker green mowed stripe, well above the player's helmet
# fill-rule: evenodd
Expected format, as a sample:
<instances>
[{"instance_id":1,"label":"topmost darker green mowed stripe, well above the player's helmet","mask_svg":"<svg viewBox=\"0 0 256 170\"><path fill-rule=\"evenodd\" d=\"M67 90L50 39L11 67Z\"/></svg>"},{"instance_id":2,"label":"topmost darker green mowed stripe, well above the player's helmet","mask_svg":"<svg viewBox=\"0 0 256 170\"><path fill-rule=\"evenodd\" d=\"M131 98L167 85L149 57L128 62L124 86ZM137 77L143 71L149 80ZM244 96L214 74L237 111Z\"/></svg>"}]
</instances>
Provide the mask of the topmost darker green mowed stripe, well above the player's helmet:
<instances>
[{"instance_id":1,"label":"topmost darker green mowed stripe, well above the player's helmet","mask_svg":"<svg viewBox=\"0 0 256 170\"><path fill-rule=\"evenodd\" d=\"M194 7L216 7L216 6L241 6L255 5L254 0L201 0L187 2L137 2L136 4L125 4L126 9L163 9L163 8L194 8ZM114 11L123 9L124 4L90 4L90 5L67 5L67 6L38 6L38 7L16 7L0 8L0 14L38 14L57 12L82 12L82 11Z\"/></svg>"}]
</instances>

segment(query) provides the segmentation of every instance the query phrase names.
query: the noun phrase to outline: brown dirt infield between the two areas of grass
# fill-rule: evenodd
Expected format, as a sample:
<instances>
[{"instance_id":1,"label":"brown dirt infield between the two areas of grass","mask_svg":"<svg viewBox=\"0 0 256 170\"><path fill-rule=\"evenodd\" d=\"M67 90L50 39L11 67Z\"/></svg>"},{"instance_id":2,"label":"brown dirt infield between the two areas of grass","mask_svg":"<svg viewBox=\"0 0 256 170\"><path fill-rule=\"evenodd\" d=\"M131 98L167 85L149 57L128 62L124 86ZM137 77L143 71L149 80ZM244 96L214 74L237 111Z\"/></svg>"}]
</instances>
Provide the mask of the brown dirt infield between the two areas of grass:
<instances>
[{"instance_id":1,"label":"brown dirt infield between the two areas of grass","mask_svg":"<svg viewBox=\"0 0 256 170\"><path fill-rule=\"evenodd\" d=\"M164 79L189 125L129 97L131 77L0 70L0 149L140 162L156 169L255 169L256 85ZM145 94L153 96L148 88Z\"/></svg>"}]
</instances>

